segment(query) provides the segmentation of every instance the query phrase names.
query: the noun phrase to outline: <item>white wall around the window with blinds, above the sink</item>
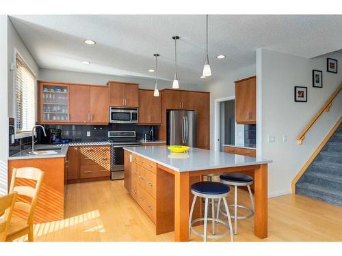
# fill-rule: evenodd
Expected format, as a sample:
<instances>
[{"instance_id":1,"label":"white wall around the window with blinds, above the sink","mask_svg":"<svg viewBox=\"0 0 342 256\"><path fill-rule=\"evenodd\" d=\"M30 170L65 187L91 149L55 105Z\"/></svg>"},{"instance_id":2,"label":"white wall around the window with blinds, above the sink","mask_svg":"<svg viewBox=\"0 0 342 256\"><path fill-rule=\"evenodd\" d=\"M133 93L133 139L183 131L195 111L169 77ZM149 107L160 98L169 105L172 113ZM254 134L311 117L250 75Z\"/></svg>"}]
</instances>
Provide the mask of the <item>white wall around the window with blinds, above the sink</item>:
<instances>
[{"instance_id":1,"label":"white wall around the window with blinds, above the sink","mask_svg":"<svg viewBox=\"0 0 342 256\"><path fill-rule=\"evenodd\" d=\"M39 68L36 61L31 56L31 53L27 50L23 40L14 28L10 18L8 18L8 66L11 63L15 63L14 49L23 57L29 68L36 74L38 78ZM8 115L9 117L14 116L14 71L8 68Z\"/></svg>"}]
</instances>

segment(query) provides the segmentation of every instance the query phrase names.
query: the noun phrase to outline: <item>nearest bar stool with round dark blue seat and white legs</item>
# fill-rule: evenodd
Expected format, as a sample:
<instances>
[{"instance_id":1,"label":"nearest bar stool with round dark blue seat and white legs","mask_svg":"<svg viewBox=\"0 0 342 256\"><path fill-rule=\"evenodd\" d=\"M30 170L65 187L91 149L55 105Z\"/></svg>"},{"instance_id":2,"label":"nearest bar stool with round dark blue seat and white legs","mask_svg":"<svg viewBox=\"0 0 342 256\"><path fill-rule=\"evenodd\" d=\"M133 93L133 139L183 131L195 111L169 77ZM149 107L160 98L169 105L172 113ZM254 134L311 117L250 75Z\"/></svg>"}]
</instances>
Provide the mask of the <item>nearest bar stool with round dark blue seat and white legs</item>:
<instances>
[{"instance_id":1,"label":"nearest bar stool with round dark blue seat and white legs","mask_svg":"<svg viewBox=\"0 0 342 256\"><path fill-rule=\"evenodd\" d=\"M228 233L231 233L231 241L233 242L233 229L232 229L232 223L231 223L231 215L229 214L228 204L226 201L226 197L228 196L229 191L231 188L229 188L227 185L221 183L221 182L197 182L195 184L192 184L192 194L194 194L194 200L192 201L192 208L190 210L189 215L189 240L191 240L191 232L193 231L196 233L196 235L201 236L203 238L203 241L206 242L207 238L223 238ZM204 218L196 218L194 221L192 221L192 214L194 212L194 207L196 203L197 197L205 198L205 216ZM208 218L208 203L209 199L211 199L211 205L212 205L212 218ZM224 201L224 207L227 213L228 217L228 224L219 218L214 218L215 210L214 210L214 199L223 199ZM194 223L198 223L199 221L204 221L204 227L203 227L203 233L200 233L196 231L192 225ZM213 235L207 235L207 221L212 222L212 231ZM221 223L225 227L228 228L228 231L216 235L215 234L215 223Z\"/></svg>"}]
</instances>

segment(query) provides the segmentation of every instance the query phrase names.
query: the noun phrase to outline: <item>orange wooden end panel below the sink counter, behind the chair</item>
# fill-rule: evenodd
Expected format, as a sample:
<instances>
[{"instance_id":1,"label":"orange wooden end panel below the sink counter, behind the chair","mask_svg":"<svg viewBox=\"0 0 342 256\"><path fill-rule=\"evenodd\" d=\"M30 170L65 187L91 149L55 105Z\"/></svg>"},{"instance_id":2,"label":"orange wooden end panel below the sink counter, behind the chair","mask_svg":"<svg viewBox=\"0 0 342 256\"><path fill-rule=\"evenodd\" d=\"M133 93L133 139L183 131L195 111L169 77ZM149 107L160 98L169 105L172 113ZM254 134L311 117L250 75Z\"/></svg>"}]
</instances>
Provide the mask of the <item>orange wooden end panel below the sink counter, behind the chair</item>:
<instances>
[{"instance_id":1,"label":"orange wooden end panel below the sink counter, behind the chair","mask_svg":"<svg viewBox=\"0 0 342 256\"><path fill-rule=\"evenodd\" d=\"M65 158L38 158L8 161L8 187L12 177L12 170L21 167L36 167L44 171L42 188L38 196L34 223L59 221L64 218L64 165ZM17 179L17 186L36 185L34 180ZM18 197L19 201L29 201L27 197ZM26 218L23 212L14 211L14 215Z\"/></svg>"}]
</instances>

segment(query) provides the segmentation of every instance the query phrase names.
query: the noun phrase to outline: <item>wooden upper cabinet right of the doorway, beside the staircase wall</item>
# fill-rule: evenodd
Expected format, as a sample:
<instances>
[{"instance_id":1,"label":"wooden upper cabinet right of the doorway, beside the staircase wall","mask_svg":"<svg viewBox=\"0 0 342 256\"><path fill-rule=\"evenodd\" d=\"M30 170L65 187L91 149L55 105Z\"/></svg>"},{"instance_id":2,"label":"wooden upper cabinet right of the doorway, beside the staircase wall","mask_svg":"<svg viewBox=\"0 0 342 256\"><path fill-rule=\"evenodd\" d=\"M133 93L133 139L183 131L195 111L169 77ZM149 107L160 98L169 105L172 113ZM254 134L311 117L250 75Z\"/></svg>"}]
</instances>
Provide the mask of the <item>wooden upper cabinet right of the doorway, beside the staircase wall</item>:
<instances>
[{"instance_id":1,"label":"wooden upper cabinet right of the doorway, beside the staircase wall","mask_svg":"<svg viewBox=\"0 0 342 256\"><path fill-rule=\"evenodd\" d=\"M235 118L237 124L257 122L257 78L256 76L235 81Z\"/></svg>"}]
</instances>

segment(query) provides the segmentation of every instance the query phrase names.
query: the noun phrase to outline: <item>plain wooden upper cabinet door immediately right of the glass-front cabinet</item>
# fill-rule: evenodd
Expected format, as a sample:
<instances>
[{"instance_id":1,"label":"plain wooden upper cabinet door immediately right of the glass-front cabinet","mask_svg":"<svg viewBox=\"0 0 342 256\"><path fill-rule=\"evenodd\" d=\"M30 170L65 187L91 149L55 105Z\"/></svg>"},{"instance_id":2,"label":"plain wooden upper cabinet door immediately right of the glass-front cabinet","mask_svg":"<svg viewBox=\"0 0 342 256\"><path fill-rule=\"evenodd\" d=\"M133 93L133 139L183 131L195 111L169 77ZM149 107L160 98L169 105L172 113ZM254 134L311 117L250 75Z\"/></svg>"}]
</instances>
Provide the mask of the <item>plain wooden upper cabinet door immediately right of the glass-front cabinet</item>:
<instances>
[{"instance_id":1,"label":"plain wooden upper cabinet door immediately right of the glass-front cabinet","mask_svg":"<svg viewBox=\"0 0 342 256\"><path fill-rule=\"evenodd\" d=\"M70 123L90 122L90 87L70 86Z\"/></svg>"}]
</instances>

